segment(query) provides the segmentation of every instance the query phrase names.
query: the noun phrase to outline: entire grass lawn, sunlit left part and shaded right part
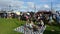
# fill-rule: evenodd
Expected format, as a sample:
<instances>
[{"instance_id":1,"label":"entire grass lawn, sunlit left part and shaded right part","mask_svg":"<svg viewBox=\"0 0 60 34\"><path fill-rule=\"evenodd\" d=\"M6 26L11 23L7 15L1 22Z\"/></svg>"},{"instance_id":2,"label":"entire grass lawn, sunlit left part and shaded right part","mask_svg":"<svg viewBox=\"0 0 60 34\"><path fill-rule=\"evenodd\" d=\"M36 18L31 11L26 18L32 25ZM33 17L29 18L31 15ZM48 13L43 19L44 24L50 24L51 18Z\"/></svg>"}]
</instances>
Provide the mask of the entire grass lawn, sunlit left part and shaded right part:
<instances>
[{"instance_id":1,"label":"entire grass lawn, sunlit left part and shaded right part","mask_svg":"<svg viewBox=\"0 0 60 34\"><path fill-rule=\"evenodd\" d=\"M0 18L0 34L22 34L15 32L13 29L25 24L25 21L19 21L17 19L3 19ZM60 25L46 25L47 28L44 34L60 34ZM51 31L52 30L52 31Z\"/></svg>"}]
</instances>

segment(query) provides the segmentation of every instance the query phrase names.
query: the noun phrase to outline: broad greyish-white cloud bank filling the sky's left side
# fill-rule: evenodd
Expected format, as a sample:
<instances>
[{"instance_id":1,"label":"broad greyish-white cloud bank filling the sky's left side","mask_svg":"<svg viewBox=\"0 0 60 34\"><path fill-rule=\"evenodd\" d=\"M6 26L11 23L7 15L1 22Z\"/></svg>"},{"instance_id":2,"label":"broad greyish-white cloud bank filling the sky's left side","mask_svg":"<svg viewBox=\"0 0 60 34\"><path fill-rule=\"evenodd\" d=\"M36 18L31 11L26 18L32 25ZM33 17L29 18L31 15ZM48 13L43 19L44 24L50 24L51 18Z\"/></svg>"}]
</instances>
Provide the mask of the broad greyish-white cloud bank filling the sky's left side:
<instances>
[{"instance_id":1,"label":"broad greyish-white cloud bank filling the sky's left side","mask_svg":"<svg viewBox=\"0 0 60 34\"><path fill-rule=\"evenodd\" d=\"M0 0L1 9L3 9L3 8L9 9L9 5L13 9L20 8L23 4L24 4L23 1L18 1L18 0Z\"/></svg>"}]
</instances>

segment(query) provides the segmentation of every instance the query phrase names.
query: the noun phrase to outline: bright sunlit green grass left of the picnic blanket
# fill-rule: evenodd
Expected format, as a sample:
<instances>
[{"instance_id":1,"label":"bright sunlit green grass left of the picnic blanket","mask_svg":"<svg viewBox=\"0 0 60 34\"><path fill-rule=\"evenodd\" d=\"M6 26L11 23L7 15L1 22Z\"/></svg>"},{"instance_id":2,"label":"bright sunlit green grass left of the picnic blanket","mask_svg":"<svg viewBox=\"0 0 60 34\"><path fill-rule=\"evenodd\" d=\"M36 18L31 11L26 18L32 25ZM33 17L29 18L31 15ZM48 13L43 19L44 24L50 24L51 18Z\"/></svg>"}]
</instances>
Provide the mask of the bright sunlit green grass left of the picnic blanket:
<instances>
[{"instance_id":1,"label":"bright sunlit green grass left of the picnic blanket","mask_svg":"<svg viewBox=\"0 0 60 34\"><path fill-rule=\"evenodd\" d=\"M20 34L13 29L24 23L25 21L18 21L17 19L0 18L0 34Z\"/></svg>"}]
</instances>

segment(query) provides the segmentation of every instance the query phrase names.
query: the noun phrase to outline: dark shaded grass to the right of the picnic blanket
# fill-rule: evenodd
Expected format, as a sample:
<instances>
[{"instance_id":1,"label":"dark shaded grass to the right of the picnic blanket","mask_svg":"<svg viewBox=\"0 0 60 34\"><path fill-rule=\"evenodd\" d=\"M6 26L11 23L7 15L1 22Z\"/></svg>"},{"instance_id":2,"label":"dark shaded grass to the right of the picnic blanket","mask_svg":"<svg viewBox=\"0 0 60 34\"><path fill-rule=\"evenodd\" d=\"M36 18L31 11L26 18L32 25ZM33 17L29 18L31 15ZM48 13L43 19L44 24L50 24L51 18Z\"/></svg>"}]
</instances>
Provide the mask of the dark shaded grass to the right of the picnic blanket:
<instances>
[{"instance_id":1,"label":"dark shaded grass to the right of the picnic blanket","mask_svg":"<svg viewBox=\"0 0 60 34\"><path fill-rule=\"evenodd\" d=\"M60 24L46 25L44 34L60 34ZM54 31L51 31L54 30Z\"/></svg>"}]
</instances>

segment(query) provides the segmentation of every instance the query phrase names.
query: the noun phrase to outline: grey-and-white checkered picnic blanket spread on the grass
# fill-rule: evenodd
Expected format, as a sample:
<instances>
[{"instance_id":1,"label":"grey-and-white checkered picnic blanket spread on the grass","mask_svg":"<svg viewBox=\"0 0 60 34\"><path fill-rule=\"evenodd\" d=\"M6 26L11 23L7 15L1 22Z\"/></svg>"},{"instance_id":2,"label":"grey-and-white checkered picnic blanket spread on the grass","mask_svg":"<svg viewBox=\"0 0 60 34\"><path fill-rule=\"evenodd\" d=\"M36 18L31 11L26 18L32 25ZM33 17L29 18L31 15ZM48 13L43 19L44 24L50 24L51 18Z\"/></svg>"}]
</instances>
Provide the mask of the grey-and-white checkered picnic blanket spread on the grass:
<instances>
[{"instance_id":1,"label":"grey-and-white checkered picnic blanket spread on the grass","mask_svg":"<svg viewBox=\"0 0 60 34\"><path fill-rule=\"evenodd\" d=\"M14 31L17 31L23 34L43 34L45 29L46 29L46 26L42 27L38 31L33 31L33 30L26 29L24 26L20 26L20 27L15 28Z\"/></svg>"}]
</instances>

